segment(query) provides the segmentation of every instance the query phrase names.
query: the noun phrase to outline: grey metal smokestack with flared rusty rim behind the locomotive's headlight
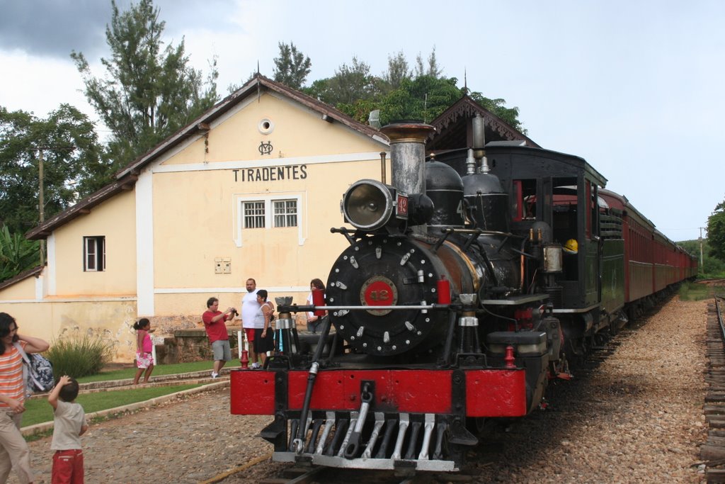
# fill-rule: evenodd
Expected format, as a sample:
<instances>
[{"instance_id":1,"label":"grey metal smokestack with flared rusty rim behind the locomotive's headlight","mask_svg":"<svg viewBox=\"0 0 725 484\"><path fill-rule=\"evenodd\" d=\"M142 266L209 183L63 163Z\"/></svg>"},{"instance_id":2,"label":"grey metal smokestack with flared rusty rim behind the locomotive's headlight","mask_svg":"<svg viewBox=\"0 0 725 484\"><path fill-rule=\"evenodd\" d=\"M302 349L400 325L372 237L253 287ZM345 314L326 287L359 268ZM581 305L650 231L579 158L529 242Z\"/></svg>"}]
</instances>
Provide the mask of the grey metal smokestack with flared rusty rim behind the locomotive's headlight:
<instances>
[{"instance_id":1,"label":"grey metal smokestack with flared rusty rim behind the locomotive's headlight","mask_svg":"<svg viewBox=\"0 0 725 484\"><path fill-rule=\"evenodd\" d=\"M380 129L390 139L391 183L400 192L426 193L426 138L435 130L423 123L394 123Z\"/></svg>"}]
</instances>

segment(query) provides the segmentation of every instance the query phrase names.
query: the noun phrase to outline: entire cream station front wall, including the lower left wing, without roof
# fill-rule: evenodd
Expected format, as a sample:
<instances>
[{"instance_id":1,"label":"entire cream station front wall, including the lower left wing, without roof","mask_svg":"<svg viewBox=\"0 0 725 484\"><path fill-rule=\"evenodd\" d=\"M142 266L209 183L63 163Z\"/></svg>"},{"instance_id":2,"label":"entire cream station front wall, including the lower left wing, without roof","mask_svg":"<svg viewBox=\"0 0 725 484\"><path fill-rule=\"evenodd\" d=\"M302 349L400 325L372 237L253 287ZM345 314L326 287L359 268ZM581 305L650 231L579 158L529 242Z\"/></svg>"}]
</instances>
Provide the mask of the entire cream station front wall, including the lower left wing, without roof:
<instances>
[{"instance_id":1,"label":"entire cream station front wall, including the lower left wing, without roof","mask_svg":"<svg viewBox=\"0 0 725 484\"><path fill-rule=\"evenodd\" d=\"M270 120L273 130L258 128ZM273 145L260 154L260 143ZM206 151L208 149L208 152ZM54 258L36 301L36 279L0 290L0 311L13 314L30 335L53 340L97 335L115 345L117 361L132 361L133 322L141 311L138 282L153 279L152 324L157 335L193 327L210 296L236 306L248 277L270 298L293 295L304 304L310 279L327 280L348 243L331 227L343 226L339 202L349 184L380 178L386 145L277 94L244 101L212 122L207 139L190 139L146 165L138 184L54 231ZM249 180L249 170L296 170L292 179ZM244 171L244 173L242 173ZM304 175L304 176L303 176ZM150 179L149 179L150 177ZM299 200L298 226L241 229L242 200ZM137 200L149 207L137 210ZM152 217L152 233L137 220ZM146 219L148 220L148 219ZM152 268L138 266L136 238L152 247ZM240 235L241 234L241 235ZM106 237L106 271L83 271L83 237ZM231 259L231 273L216 274L215 258ZM54 280L50 280L54 274ZM54 287L54 291L52 288ZM141 292L143 292L143 288Z\"/></svg>"}]
</instances>

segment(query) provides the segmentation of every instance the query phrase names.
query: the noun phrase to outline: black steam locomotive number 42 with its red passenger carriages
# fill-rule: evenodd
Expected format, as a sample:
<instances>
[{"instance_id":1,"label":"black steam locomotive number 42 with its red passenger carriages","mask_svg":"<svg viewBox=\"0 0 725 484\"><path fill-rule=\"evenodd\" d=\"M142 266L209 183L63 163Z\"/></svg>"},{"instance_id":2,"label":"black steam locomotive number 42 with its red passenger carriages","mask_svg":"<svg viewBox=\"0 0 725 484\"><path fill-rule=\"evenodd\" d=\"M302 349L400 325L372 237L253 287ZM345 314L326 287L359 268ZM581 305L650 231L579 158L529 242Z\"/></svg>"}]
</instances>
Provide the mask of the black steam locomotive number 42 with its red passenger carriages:
<instances>
[{"instance_id":1,"label":"black steam locomotive number 42 with its red passenger carriages","mask_svg":"<svg viewBox=\"0 0 725 484\"><path fill-rule=\"evenodd\" d=\"M326 293L278 298L282 350L232 372L231 413L273 416L274 460L458 470L484 419L537 409L570 361L695 276L585 160L471 124L471 149L427 161L431 126L382 128L392 183L344 194L354 229L331 229L349 247ZM296 311L326 314L322 334L298 334Z\"/></svg>"}]
</instances>

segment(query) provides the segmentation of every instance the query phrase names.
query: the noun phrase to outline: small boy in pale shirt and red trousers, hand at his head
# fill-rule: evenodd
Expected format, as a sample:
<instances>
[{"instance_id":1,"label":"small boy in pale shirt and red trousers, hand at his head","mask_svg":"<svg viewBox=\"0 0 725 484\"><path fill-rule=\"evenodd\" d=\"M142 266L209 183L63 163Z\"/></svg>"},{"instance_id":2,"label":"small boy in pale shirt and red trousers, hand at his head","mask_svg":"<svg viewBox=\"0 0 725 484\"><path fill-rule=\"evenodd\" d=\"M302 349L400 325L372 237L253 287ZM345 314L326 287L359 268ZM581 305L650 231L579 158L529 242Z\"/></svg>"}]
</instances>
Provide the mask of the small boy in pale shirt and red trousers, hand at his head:
<instances>
[{"instance_id":1,"label":"small boy in pale shirt and red trousers, hand at his head","mask_svg":"<svg viewBox=\"0 0 725 484\"><path fill-rule=\"evenodd\" d=\"M86 412L80 403L75 403L78 396L78 382L68 376L60 377L50 395L48 403L54 409L52 482L67 484L83 484L83 449L80 436L88 430Z\"/></svg>"}]
</instances>

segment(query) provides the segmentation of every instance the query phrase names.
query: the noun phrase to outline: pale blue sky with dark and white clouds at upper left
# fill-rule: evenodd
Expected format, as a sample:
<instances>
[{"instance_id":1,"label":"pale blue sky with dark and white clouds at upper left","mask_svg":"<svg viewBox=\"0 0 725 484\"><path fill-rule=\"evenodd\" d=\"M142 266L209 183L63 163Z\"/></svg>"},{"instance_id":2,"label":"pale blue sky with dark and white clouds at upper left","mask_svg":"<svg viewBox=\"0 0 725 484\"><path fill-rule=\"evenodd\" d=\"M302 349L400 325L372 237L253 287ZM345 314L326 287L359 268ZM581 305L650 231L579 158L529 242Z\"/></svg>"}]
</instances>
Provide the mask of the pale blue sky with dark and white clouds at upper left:
<instances>
[{"instance_id":1,"label":"pale blue sky with dark and white clouds at upper left","mask_svg":"<svg viewBox=\"0 0 725 484\"><path fill-rule=\"evenodd\" d=\"M354 56L381 75L397 52L412 66L435 49L443 75L518 107L531 139L583 157L674 241L704 237L725 199L725 1L154 4L165 42L183 39L194 67L217 58L223 96L257 64L273 78L279 42L310 57L308 85ZM0 106L45 118L69 103L97 120L70 53L106 75L110 0L0 0L0 12Z\"/></svg>"}]
</instances>

